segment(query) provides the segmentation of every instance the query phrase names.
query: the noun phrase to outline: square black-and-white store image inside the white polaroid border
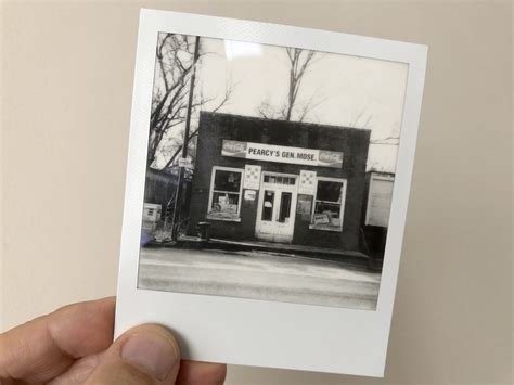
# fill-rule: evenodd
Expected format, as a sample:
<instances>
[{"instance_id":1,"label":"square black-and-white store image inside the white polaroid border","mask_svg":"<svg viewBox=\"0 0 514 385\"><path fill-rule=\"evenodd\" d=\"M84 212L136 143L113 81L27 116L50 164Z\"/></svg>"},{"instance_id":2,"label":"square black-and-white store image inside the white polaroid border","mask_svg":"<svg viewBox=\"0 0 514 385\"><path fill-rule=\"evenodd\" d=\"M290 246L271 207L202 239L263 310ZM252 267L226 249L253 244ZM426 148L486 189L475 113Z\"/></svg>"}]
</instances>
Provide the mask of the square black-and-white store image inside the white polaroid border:
<instances>
[{"instance_id":1,"label":"square black-and-white store image inside the white polaroid border","mask_svg":"<svg viewBox=\"0 0 514 385\"><path fill-rule=\"evenodd\" d=\"M138 288L375 310L407 75L159 33Z\"/></svg>"}]
</instances>

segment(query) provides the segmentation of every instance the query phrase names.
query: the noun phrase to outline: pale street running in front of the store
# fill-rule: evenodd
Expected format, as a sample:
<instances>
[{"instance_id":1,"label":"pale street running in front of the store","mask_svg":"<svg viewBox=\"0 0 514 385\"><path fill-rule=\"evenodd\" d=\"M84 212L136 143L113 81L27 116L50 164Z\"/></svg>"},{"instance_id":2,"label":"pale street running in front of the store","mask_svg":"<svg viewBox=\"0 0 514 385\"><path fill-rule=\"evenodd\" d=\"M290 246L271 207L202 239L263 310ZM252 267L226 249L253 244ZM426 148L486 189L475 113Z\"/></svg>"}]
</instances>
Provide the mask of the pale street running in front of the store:
<instances>
[{"instance_id":1,"label":"pale street running in front of the store","mask_svg":"<svg viewBox=\"0 0 514 385\"><path fill-rule=\"evenodd\" d=\"M141 248L139 288L374 310L381 273L266 252Z\"/></svg>"}]
</instances>

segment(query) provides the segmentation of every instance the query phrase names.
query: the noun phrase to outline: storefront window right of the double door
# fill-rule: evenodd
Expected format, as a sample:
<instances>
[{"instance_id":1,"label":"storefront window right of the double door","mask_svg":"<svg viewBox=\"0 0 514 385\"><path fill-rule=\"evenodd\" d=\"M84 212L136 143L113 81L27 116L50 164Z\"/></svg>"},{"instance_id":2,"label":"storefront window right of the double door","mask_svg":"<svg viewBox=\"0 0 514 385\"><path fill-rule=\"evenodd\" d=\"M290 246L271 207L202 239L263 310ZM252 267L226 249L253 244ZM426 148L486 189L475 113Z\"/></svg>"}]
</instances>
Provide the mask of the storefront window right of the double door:
<instances>
[{"instance_id":1,"label":"storefront window right of the double door","mask_svg":"<svg viewBox=\"0 0 514 385\"><path fill-rule=\"evenodd\" d=\"M318 179L311 229L342 230L345 188L343 179Z\"/></svg>"}]
</instances>

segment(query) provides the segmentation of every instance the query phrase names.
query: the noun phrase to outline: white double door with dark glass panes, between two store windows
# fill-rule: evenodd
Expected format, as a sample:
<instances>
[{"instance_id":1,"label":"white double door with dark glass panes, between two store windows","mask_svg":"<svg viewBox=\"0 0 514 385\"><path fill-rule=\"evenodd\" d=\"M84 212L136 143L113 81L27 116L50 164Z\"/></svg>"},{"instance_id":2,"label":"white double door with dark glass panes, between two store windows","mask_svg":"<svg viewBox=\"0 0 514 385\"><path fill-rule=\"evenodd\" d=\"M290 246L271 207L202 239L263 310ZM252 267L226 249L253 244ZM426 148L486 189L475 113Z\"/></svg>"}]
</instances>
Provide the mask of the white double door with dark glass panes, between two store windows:
<instances>
[{"instance_id":1,"label":"white double door with dark glass panes, between two store windows","mask_svg":"<svg viewBox=\"0 0 514 385\"><path fill-rule=\"evenodd\" d=\"M269 242L293 241L297 176L264 172L255 236Z\"/></svg>"}]
</instances>

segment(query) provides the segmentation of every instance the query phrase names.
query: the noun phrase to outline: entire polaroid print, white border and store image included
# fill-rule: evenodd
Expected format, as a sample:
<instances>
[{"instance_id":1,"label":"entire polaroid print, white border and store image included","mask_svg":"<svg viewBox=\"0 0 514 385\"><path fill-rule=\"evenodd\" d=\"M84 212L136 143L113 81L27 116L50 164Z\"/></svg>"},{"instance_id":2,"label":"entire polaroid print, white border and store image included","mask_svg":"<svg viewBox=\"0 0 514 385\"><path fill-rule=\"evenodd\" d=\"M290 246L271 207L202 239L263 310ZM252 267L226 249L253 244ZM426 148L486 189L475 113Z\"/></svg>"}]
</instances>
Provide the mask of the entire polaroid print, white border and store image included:
<instances>
[{"instance_id":1,"label":"entire polaroid print, white border and store image included","mask_svg":"<svg viewBox=\"0 0 514 385\"><path fill-rule=\"evenodd\" d=\"M383 376L425 46L142 10L115 333Z\"/></svg>"}]
</instances>

